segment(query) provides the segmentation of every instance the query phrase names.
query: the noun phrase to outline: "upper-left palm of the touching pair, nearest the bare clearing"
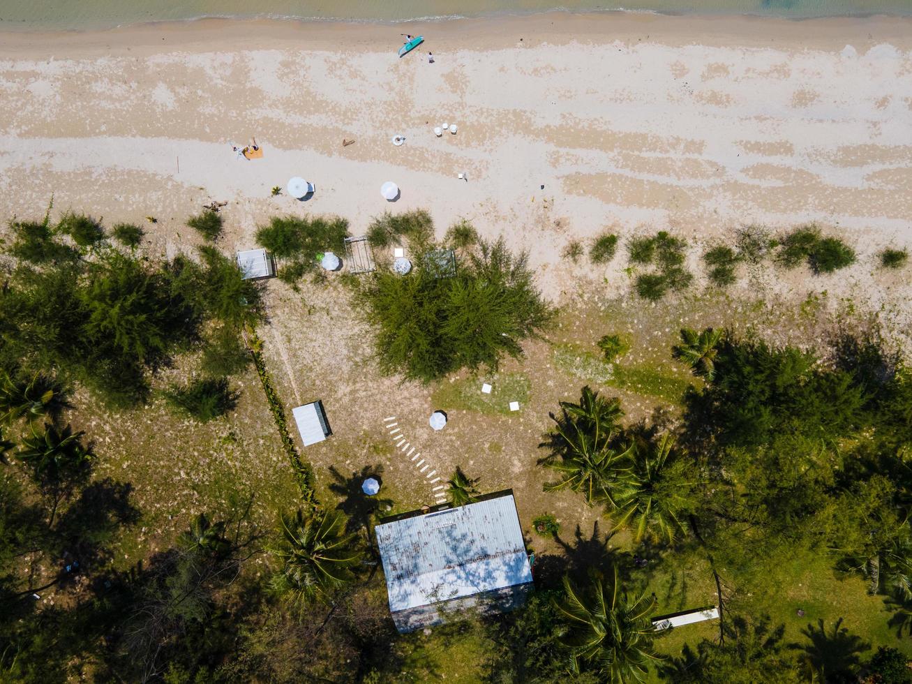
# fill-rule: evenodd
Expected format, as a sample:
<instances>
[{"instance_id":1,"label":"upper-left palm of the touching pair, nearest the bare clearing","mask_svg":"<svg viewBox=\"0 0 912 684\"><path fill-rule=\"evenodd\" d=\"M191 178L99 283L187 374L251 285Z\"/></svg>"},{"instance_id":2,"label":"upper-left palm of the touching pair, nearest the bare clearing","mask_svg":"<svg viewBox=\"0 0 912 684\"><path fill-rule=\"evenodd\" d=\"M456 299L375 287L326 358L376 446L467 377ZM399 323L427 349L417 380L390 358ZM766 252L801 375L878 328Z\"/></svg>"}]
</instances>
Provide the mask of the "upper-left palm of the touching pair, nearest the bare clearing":
<instances>
[{"instance_id":1,"label":"upper-left palm of the touching pair, nearest the bare clearing","mask_svg":"<svg viewBox=\"0 0 912 684\"><path fill-rule=\"evenodd\" d=\"M615 448L617 419L624 414L617 399L599 397L588 386L579 403L561 402L561 418L543 446L551 453L540 465L560 473L557 482L547 482L545 492L569 489L583 492L586 503L614 506L613 488L626 476L632 445Z\"/></svg>"}]
</instances>

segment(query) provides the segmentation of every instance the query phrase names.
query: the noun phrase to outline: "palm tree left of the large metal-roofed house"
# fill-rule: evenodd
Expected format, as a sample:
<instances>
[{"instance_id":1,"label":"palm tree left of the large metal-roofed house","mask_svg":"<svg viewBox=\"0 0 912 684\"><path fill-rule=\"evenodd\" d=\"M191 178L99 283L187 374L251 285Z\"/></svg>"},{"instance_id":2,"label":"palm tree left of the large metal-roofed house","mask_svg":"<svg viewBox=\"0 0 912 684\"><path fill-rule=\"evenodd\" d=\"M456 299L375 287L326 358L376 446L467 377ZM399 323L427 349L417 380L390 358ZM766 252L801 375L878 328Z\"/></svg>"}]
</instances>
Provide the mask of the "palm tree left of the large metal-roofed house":
<instances>
[{"instance_id":1,"label":"palm tree left of the large metal-roofed house","mask_svg":"<svg viewBox=\"0 0 912 684\"><path fill-rule=\"evenodd\" d=\"M272 587L293 606L303 609L315 599L332 601L354 579L352 567L361 553L355 535L345 534L345 516L337 511L280 515L279 543L273 555L280 565Z\"/></svg>"}]
</instances>

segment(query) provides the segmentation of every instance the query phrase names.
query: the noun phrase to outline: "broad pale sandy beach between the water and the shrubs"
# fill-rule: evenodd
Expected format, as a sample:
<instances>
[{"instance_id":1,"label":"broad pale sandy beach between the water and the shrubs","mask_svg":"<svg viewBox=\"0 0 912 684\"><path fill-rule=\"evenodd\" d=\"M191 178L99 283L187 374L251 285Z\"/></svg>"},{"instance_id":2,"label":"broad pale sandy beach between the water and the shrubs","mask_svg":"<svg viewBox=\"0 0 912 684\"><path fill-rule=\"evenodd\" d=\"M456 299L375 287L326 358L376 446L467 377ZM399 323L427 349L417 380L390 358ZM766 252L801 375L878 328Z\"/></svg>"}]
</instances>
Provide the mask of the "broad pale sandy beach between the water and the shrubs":
<instances>
[{"instance_id":1,"label":"broad pale sandy beach between the water and the shrubs","mask_svg":"<svg viewBox=\"0 0 912 684\"><path fill-rule=\"evenodd\" d=\"M398 59L405 31L428 42ZM623 259L604 269L560 255L606 228L709 244L741 223L815 221L864 264L814 283L772 273L768 286L907 294L879 283L871 259L912 243L912 18L554 13L6 33L0 93L0 215L40 215L52 192L55 211L108 223L154 215L164 253L196 243L183 220L210 198L231 202L226 250L251 246L275 213L338 213L358 234L380 212L421 207L441 234L467 218L529 249L559 297L580 278L628 287ZM459 134L435 138L443 119ZM264 159L235 161L228 143L252 135ZM270 197L291 175L316 182L313 200ZM395 204L379 195L387 180L402 188Z\"/></svg>"}]
</instances>

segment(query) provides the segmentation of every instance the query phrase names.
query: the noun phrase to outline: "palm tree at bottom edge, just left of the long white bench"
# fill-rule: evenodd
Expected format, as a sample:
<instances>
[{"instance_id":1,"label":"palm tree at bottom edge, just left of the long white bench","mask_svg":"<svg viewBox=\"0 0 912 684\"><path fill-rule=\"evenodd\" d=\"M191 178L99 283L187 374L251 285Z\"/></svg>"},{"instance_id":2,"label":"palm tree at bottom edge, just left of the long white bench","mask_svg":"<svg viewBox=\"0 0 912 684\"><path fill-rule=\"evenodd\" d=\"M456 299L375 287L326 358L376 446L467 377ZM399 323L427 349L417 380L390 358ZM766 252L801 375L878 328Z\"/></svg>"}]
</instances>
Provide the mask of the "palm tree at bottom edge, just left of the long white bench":
<instances>
[{"instance_id":1,"label":"palm tree at bottom edge, just left of the long white bench","mask_svg":"<svg viewBox=\"0 0 912 684\"><path fill-rule=\"evenodd\" d=\"M649 614L656 599L628 596L620 586L617 565L607 580L597 572L584 593L564 577L566 596L554 606L565 621L561 641L570 648L578 673L586 663L610 682L642 681L650 660L659 658L652 646L657 636Z\"/></svg>"}]
</instances>

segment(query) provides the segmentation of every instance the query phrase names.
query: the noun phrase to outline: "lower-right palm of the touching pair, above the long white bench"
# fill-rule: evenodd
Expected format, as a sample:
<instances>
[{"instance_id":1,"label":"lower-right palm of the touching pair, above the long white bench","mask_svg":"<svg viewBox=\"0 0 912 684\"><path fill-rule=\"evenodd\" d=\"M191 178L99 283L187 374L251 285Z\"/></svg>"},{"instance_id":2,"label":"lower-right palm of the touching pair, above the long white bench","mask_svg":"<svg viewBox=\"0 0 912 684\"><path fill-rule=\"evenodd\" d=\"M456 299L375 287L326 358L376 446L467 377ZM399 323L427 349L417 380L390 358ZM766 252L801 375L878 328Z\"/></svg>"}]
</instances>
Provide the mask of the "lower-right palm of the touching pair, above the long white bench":
<instances>
[{"instance_id":1,"label":"lower-right palm of the touching pair, above the long white bench","mask_svg":"<svg viewBox=\"0 0 912 684\"><path fill-rule=\"evenodd\" d=\"M693 505L694 467L671 448L665 434L657 445L637 448L630 475L618 483L617 527L632 524L634 541L643 537L670 544L683 529L681 518Z\"/></svg>"}]
</instances>

